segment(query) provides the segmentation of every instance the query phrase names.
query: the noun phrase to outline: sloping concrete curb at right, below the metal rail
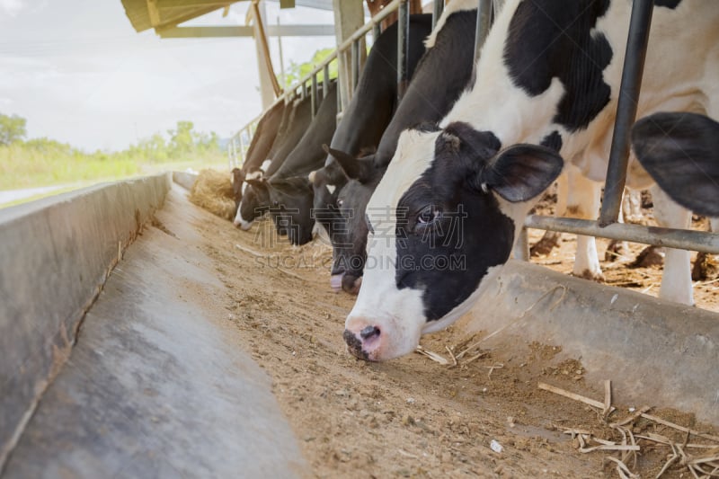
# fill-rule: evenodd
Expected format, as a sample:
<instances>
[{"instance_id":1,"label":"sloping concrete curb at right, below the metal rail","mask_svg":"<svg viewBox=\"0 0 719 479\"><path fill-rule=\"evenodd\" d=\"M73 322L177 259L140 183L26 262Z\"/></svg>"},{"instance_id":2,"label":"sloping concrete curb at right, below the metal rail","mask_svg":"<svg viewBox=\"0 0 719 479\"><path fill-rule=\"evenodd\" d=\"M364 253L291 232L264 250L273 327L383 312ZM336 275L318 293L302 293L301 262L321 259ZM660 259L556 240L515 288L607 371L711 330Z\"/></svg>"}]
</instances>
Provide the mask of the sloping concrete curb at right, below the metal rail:
<instances>
[{"instance_id":1,"label":"sloping concrete curb at right, below the metal rail","mask_svg":"<svg viewBox=\"0 0 719 479\"><path fill-rule=\"evenodd\" d=\"M459 325L483 331L490 347L562 346L561 359L581 359L588 384L612 380L616 404L719 424L719 314L510 261Z\"/></svg>"}]
</instances>

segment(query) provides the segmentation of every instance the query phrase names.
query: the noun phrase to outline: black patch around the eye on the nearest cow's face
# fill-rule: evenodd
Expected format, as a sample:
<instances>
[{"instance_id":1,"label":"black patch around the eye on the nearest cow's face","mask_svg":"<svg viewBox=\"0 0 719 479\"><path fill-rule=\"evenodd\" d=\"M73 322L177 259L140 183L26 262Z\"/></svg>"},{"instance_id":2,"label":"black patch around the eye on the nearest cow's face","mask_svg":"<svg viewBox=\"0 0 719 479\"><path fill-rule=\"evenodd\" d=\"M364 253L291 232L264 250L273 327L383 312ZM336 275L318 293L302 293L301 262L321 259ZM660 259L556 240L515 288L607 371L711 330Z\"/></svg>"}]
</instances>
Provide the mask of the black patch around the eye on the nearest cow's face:
<instances>
[{"instance_id":1,"label":"black patch around the eye on the nearest cow's face","mask_svg":"<svg viewBox=\"0 0 719 479\"><path fill-rule=\"evenodd\" d=\"M400 289L422 289L428 321L463 303L488 269L510 256L514 222L493 193L471 181L500 147L492 133L448 125L437 137L430 168L399 200L395 281Z\"/></svg>"}]
</instances>

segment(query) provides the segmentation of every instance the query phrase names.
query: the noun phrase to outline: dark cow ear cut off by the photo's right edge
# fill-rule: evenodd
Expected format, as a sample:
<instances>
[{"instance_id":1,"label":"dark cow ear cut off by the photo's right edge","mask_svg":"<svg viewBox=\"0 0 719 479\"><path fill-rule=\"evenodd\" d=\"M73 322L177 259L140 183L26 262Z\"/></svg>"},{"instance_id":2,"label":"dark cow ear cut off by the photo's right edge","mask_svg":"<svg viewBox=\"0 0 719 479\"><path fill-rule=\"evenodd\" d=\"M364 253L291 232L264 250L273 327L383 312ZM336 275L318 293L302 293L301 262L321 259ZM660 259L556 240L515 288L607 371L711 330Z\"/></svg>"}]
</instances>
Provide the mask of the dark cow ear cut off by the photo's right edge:
<instances>
[{"instance_id":1,"label":"dark cow ear cut off by the photo's right edge","mask_svg":"<svg viewBox=\"0 0 719 479\"><path fill-rule=\"evenodd\" d=\"M632 148L672 200L719 217L719 123L696 113L655 113L635 123Z\"/></svg>"}]
</instances>

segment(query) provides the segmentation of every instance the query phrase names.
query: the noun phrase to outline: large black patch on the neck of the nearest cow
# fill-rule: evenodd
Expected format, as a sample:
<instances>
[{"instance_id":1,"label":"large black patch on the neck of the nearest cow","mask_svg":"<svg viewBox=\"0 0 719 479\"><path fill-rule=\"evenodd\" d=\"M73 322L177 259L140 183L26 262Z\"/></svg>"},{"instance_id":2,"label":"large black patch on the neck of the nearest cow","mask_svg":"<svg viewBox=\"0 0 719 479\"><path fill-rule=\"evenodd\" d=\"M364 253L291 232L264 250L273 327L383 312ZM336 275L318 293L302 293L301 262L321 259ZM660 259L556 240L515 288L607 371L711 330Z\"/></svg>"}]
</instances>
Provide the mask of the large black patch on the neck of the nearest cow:
<instances>
[{"instance_id":1,"label":"large black patch on the neck of the nearest cow","mask_svg":"<svg viewBox=\"0 0 719 479\"><path fill-rule=\"evenodd\" d=\"M566 91L553 120L570 131L586 128L609 102L602 71L612 49L602 33L592 34L608 5L609 0L526 0L510 21L504 63L512 82L537 96L559 78Z\"/></svg>"}]
</instances>

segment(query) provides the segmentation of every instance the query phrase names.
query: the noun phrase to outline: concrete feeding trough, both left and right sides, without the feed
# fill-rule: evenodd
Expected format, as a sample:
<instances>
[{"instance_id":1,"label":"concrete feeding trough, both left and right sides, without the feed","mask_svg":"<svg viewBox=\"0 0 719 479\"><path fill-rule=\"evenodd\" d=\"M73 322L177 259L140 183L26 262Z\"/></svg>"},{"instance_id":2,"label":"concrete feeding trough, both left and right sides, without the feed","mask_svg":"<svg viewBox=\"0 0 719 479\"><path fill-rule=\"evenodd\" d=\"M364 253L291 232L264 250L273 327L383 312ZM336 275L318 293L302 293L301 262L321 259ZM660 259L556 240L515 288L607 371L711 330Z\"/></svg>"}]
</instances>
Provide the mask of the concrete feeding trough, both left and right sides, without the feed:
<instances>
[{"instance_id":1,"label":"concrete feeding trough, both left and right sides, without the feed","mask_svg":"<svg viewBox=\"0 0 719 479\"><path fill-rule=\"evenodd\" d=\"M0 210L4 477L306 472L269 378L218 319L226 286L173 178L193 181ZM512 261L459 326L489 347L561 345L618 403L719 424L715 313Z\"/></svg>"}]
</instances>

